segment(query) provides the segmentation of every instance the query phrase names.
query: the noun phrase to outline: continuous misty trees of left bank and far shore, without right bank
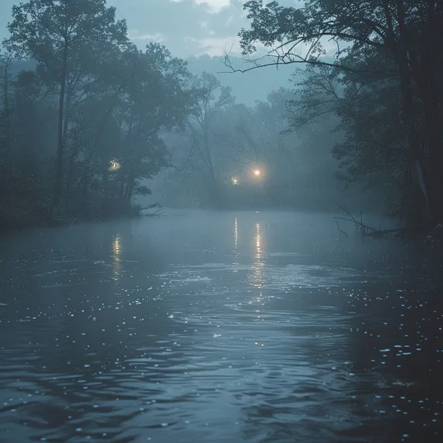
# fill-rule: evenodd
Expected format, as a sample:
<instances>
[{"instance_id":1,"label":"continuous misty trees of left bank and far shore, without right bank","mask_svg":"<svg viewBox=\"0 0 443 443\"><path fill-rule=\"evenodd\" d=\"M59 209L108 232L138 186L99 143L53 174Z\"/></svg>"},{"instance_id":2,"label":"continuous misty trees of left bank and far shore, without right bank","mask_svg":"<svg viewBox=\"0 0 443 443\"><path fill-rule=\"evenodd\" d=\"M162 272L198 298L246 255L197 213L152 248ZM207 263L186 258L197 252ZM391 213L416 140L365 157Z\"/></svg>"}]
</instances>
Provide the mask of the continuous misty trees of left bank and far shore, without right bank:
<instances>
[{"instance_id":1,"label":"continuous misty trees of left bank and far shore, without right bank","mask_svg":"<svg viewBox=\"0 0 443 443\"><path fill-rule=\"evenodd\" d=\"M284 136L292 91L236 104L215 75L190 75L164 46L139 51L105 0L20 3L8 29L1 224L130 215L162 170L154 199L166 204L334 205L331 125Z\"/></svg>"}]
</instances>

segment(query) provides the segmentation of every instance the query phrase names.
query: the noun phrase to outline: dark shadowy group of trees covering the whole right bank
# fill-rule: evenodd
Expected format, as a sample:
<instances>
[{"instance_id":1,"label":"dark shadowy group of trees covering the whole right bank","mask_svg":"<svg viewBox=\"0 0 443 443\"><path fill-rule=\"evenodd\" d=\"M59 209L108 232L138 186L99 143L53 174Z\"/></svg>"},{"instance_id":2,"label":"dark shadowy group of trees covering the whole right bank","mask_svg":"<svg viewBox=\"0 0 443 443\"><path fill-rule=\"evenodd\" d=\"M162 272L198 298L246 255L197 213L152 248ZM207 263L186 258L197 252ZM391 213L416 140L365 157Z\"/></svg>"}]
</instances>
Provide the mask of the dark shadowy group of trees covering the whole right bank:
<instances>
[{"instance_id":1,"label":"dark shadowy group of trees covering the whole right bank","mask_svg":"<svg viewBox=\"0 0 443 443\"><path fill-rule=\"evenodd\" d=\"M345 135L333 148L342 177L389 196L390 212L409 225L441 223L443 2L250 0L244 9L245 54L260 42L271 47L264 64L308 66L289 102L292 129L333 114Z\"/></svg>"}]
</instances>

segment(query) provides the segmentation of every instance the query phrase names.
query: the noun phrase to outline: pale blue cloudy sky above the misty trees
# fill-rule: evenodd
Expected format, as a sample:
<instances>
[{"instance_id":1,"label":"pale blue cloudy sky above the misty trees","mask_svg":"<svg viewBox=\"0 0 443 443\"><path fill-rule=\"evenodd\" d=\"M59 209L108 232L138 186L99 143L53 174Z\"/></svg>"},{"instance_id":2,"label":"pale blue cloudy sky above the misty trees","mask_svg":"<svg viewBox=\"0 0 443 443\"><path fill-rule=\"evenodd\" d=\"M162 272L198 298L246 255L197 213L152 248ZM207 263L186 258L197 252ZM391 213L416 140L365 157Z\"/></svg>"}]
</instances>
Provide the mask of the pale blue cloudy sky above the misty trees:
<instances>
[{"instance_id":1,"label":"pale blue cloudy sky above the misty trees","mask_svg":"<svg viewBox=\"0 0 443 443\"><path fill-rule=\"evenodd\" d=\"M0 0L0 37L7 36L12 5ZM126 19L129 37L140 48L161 42L174 56L221 55L224 48L239 53L237 33L248 27L246 0L107 0L119 19ZM298 3L280 0L282 5Z\"/></svg>"}]
</instances>

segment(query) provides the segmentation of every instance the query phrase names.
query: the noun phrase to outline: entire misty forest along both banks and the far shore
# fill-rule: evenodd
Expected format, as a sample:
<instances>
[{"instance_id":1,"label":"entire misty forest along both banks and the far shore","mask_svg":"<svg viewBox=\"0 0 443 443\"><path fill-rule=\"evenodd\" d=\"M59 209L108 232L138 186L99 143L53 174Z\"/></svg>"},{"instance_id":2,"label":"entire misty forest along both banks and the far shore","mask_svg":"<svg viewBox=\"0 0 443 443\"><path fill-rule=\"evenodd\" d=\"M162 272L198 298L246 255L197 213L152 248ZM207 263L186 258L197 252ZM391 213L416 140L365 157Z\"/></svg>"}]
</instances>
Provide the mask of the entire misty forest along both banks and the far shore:
<instances>
[{"instance_id":1,"label":"entire misty forest along both banks and the far shore","mask_svg":"<svg viewBox=\"0 0 443 443\"><path fill-rule=\"evenodd\" d=\"M154 177L167 204L220 209L329 208L340 179L404 224L443 221L442 4L244 9L251 68L226 54L220 70L294 71L253 106L226 86L248 73L192 75L165 46L140 51L105 0L15 6L0 53L1 224L136 214Z\"/></svg>"}]
</instances>

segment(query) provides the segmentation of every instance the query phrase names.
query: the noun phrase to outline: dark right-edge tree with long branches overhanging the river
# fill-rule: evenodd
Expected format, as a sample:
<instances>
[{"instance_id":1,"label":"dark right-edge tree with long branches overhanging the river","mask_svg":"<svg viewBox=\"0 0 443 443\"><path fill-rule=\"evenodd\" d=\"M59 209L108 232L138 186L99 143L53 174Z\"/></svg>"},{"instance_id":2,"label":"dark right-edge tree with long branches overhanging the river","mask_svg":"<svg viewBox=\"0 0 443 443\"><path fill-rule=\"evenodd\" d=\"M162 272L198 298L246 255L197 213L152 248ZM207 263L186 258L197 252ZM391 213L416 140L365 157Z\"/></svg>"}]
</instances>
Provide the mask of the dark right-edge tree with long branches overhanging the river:
<instances>
[{"instance_id":1,"label":"dark right-edge tree with long branches overhanging the river","mask_svg":"<svg viewBox=\"0 0 443 443\"><path fill-rule=\"evenodd\" d=\"M406 205L417 210L421 225L427 218L432 224L442 221L443 96L438 78L443 57L431 49L442 37L442 3L307 0L303 8L284 8L276 1L264 6L251 0L244 8L251 19L251 29L239 33L244 53L255 52L255 42L261 42L271 48L268 64L330 66L337 78L347 73L356 85L368 81L368 75L370 81L390 78L399 84ZM336 53L326 57L328 41L336 44ZM374 63L380 59L383 63ZM253 68L264 64L255 60Z\"/></svg>"}]
</instances>

